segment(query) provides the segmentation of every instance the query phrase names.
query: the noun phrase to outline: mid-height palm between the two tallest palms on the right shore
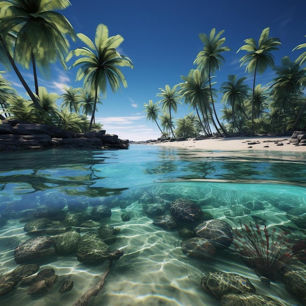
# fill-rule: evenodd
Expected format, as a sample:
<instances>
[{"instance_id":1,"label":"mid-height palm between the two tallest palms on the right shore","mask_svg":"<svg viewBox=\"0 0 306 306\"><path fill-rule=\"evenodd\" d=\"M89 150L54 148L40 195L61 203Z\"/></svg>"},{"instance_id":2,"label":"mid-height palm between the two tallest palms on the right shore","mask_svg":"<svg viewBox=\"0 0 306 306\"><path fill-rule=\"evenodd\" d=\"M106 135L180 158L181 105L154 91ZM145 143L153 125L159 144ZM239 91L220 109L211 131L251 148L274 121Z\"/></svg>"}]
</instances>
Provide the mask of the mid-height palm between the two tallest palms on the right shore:
<instances>
[{"instance_id":1,"label":"mid-height palm between the two tallest palms on the right shore","mask_svg":"<svg viewBox=\"0 0 306 306\"><path fill-rule=\"evenodd\" d=\"M243 105L243 101L248 97L250 87L247 84L243 84L246 77L237 80L237 75L230 74L227 79L228 82L223 82L221 84L220 91L223 93L222 101L232 108L233 130L237 131L240 129L236 121L236 106Z\"/></svg>"}]
</instances>

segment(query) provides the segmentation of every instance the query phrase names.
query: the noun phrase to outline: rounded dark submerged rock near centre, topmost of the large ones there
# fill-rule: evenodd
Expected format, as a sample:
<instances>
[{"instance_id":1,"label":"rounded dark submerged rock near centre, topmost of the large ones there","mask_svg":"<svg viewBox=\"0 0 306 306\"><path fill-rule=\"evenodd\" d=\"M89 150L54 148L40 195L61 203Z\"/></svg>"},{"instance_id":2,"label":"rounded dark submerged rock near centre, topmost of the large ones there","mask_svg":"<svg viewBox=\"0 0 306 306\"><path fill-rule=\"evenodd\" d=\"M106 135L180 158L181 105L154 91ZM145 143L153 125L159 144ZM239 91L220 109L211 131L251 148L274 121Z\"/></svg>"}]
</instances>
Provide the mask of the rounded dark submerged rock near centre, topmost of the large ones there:
<instances>
[{"instance_id":1,"label":"rounded dark submerged rock near centre, topmost of the large ones there","mask_svg":"<svg viewBox=\"0 0 306 306\"><path fill-rule=\"evenodd\" d=\"M177 221L195 222L202 218L201 207L188 199L179 198L170 204L170 213Z\"/></svg>"}]
</instances>

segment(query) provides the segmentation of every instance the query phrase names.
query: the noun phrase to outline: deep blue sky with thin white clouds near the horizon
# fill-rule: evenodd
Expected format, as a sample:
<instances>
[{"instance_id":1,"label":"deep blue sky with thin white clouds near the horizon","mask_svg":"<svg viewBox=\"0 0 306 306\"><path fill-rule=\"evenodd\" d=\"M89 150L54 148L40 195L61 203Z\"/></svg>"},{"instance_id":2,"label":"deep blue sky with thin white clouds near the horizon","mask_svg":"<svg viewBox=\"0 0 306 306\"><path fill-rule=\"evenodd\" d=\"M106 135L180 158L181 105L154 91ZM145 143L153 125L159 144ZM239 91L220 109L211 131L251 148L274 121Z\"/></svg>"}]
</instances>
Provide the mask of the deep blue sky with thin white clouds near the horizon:
<instances>
[{"instance_id":1,"label":"deep blue sky with thin white clouds near the horizon","mask_svg":"<svg viewBox=\"0 0 306 306\"><path fill-rule=\"evenodd\" d=\"M215 73L214 81L219 88L227 81L229 74L247 76L251 84L252 76L240 67L239 60L245 51L237 50L247 38L258 40L262 30L270 27L270 37L280 38L282 45L273 53L275 64L280 65L281 58L288 55L295 60L302 51L291 50L298 44L306 43L306 1L295 0L71 0L72 5L61 14L66 16L77 33L87 35L94 40L95 29L99 23L109 28L109 36L120 34L124 42L119 52L128 56L134 69L124 67L122 71L128 87L113 94L107 92L103 105L98 107L96 121L104 125L107 133L117 134L119 138L147 140L157 138L159 131L155 123L147 122L143 112L144 103L157 102L159 87L166 84L173 87L182 80L181 75L188 75L196 68L193 62L203 45L199 33L209 34L212 28L217 32L225 30L224 46L232 51L223 53L226 62ZM276 4L277 3L277 4ZM70 44L71 49L81 47L80 41ZM68 66L73 63L69 61ZM52 66L50 80L40 78L39 86L45 86L48 92L63 93L63 86L81 87L82 82L75 82L77 69L63 70L60 64ZM30 70L23 70L25 79L33 88ZM6 77L24 95L14 72L7 72ZM266 85L273 78L273 71L267 70L258 77L257 84ZM34 89L33 89L34 90ZM217 101L217 109L223 106ZM178 107L174 118L183 117L190 110L184 103Z\"/></svg>"}]
</instances>

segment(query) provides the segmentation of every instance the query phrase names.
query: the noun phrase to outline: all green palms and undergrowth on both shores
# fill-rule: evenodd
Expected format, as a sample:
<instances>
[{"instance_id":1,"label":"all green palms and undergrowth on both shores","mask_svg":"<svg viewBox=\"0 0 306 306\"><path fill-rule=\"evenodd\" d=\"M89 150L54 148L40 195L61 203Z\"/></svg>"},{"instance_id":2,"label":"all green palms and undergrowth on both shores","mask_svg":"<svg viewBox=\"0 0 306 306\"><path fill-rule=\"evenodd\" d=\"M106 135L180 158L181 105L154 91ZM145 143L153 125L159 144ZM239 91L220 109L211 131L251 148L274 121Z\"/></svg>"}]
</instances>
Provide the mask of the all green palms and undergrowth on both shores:
<instances>
[{"instance_id":1,"label":"all green palms and undergrowth on both shores","mask_svg":"<svg viewBox=\"0 0 306 306\"><path fill-rule=\"evenodd\" d=\"M13 127L16 124L44 124L78 134L68 138L86 138L84 133L102 129L101 123L95 123L100 95L106 96L107 87L113 92L122 86L127 87L121 67L133 68L133 63L118 52L123 37L109 36L105 24L97 26L94 41L85 34L76 34L71 23L58 12L70 5L69 1L0 3L0 62L6 69L13 68L29 97L19 95L0 74L0 116L5 123L14 119ZM270 37L269 31L269 27L263 29L258 40L246 39L237 51L247 52L240 58L240 63L245 66L246 72L253 75L253 86L247 85L247 77L238 78L231 74L219 90L215 87L215 73L223 65L223 53L230 51L224 46L224 30L217 32L213 28L209 34L199 34L203 50L194 60L197 68L191 69L187 76L182 75L182 83L160 87L160 92L156 94L159 101L153 103L149 100L148 104L144 104L147 119L157 124L160 136L289 135L293 131L306 130L306 98L303 92L306 87L306 52L295 61L285 56L281 66L274 66L273 52L279 49L281 41ZM73 42L81 40L84 46L70 50L68 38ZM299 44L293 50L304 47L306 44ZM75 61L67 65L74 57ZM83 87L65 87L65 93L59 95L39 86L38 71L48 78L50 64L56 61L63 69L78 67L76 81L83 80ZM266 86L257 84L257 75L267 67L275 71L274 78ZM35 90L25 81L23 70L32 71ZM216 111L218 93L224 104L220 117ZM59 99L62 101L60 106ZM173 113L182 101L192 112L174 119ZM6 130L4 134L9 133ZM95 134L90 134L89 138L93 137Z\"/></svg>"}]
</instances>

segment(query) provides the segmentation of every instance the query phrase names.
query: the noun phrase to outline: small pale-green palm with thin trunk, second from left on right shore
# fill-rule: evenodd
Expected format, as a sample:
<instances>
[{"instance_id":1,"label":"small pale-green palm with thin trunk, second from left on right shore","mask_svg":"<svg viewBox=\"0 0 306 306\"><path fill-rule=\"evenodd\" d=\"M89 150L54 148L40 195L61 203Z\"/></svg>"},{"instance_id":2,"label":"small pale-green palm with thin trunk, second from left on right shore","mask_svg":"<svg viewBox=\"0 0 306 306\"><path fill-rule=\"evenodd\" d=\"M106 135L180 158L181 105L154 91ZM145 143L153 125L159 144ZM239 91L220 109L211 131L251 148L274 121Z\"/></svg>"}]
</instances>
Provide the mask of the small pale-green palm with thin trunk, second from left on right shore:
<instances>
[{"instance_id":1,"label":"small pale-green palm with thin trunk, second from left on right shore","mask_svg":"<svg viewBox=\"0 0 306 306\"><path fill-rule=\"evenodd\" d=\"M175 85L174 87L170 87L169 85L165 86L164 88L159 88L161 92L156 94L156 97L161 97L162 99L159 100L156 104L162 104L162 109L163 110L169 110L169 116L170 116L170 121L172 121L172 116L171 116L171 109L174 110L174 112L177 111L177 105L182 104L179 99L180 95L177 90L178 85ZM172 129L172 124L170 124L170 130L172 132L173 137L175 137L175 134Z\"/></svg>"}]
</instances>

